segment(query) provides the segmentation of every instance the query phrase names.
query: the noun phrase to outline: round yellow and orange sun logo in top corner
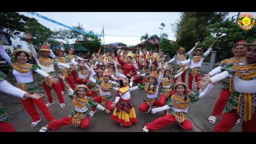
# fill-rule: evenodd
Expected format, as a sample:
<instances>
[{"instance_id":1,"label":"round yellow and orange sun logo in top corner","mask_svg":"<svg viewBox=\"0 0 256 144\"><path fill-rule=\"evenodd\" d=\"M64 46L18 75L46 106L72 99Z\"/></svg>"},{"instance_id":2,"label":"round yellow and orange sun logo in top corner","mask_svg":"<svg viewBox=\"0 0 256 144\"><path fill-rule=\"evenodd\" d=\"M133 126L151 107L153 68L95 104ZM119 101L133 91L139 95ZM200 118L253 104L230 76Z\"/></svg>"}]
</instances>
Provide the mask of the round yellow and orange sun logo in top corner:
<instances>
[{"instance_id":1,"label":"round yellow and orange sun logo in top corner","mask_svg":"<svg viewBox=\"0 0 256 144\"><path fill-rule=\"evenodd\" d=\"M242 30L251 30L255 25L255 20L252 14L242 14L238 18L238 26Z\"/></svg>"}]
</instances>

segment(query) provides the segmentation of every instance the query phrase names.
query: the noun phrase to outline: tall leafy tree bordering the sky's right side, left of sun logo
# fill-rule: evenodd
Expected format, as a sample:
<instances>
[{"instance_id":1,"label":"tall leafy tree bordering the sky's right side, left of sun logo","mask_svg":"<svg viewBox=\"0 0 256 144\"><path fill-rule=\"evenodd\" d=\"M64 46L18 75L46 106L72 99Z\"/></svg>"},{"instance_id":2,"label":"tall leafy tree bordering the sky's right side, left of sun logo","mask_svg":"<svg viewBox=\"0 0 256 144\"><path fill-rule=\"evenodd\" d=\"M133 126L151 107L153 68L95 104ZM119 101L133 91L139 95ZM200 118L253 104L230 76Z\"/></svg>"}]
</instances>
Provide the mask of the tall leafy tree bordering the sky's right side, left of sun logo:
<instances>
[{"instance_id":1,"label":"tall leafy tree bordering the sky's right side, left of sun logo","mask_svg":"<svg viewBox=\"0 0 256 144\"><path fill-rule=\"evenodd\" d=\"M186 48L194 46L198 40L204 41L210 36L207 26L221 22L228 13L220 12L184 12L176 23L176 38L179 45Z\"/></svg>"}]
</instances>

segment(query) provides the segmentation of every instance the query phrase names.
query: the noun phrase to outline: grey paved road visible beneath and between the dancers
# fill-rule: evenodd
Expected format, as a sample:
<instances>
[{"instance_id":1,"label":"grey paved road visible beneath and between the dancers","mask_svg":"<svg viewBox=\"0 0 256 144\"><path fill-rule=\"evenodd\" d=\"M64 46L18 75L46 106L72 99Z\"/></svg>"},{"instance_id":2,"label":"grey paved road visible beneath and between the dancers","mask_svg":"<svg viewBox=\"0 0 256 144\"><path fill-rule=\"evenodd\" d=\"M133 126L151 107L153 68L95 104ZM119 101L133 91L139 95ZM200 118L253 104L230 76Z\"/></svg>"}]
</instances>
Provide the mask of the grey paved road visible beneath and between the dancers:
<instances>
[{"instance_id":1,"label":"grey paved road visible beneath and between the dancers","mask_svg":"<svg viewBox=\"0 0 256 144\"><path fill-rule=\"evenodd\" d=\"M11 74L8 75L8 79L10 82L14 82L14 78ZM188 78L186 76L186 78ZM180 81L180 78L178 79ZM211 90L210 94L205 98L200 99L198 102L193 103L190 106L189 114L193 123L193 130L190 132L210 132L214 129L214 125L210 124L207 121L207 118L210 116L215 102L217 102L219 97L219 91L221 83L218 83L217 86ZM67 94L64 94L64 99L66 102L66 107L64 109L60 108L58 98L52 90L54 105L50 106L50 111L54 115L54 118L62 118L70 113L71 110L74 109L74 105L72 104L70 98ZM114 90L112 91L114 93ZM10 118L13 121L14 127L17 131L26 131L26 132L38 132L42 126L46 124L46 119L41 114L42 122L38 124L38 126L31 127L31 118L24 110L21 102L18 98L10 97L7 94L0 94L0 101L3 106L6 107L7 112L10 114ZM131 92L132 100L134 105L136 106L136 114L138 117L138 123L130 126L123 127L119 126L117 123L110 119L110 114L106 114L103 111L97 111L94 114L93 118L90 118L90 127L86 129L74 128L74 126L64 126L56 130L56 132L142 132L142 127L146 125L147 122L152 122L154 119L161 117L163 112L157 114L145 114L138 110L138 106L142 102L142 99L145 98L146 93L143 90L135 90ZM114 98L113 98L114 100ZM47 98L45 98L47 102ZM38 110L39 111L39 110ZM218 121L217 121L218 122ZM234 126L231 130L233 132L242 131L242 124ZM172 126L166 126L162 130L157 130L155 132L184 132L186 130L182 130L177 124Z\"/></svg>"}]
</instances>

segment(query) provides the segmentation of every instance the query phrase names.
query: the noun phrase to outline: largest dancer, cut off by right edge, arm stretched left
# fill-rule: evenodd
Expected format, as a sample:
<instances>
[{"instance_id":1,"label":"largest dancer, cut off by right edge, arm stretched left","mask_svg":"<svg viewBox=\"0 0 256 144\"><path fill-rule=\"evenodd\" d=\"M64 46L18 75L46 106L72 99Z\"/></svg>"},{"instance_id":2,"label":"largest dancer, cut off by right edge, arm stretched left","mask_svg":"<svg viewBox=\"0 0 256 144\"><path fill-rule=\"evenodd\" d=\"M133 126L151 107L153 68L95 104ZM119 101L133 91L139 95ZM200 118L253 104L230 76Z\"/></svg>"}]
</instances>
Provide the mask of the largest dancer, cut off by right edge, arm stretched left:
<instances>
[{"instance_id":1,"label":"largest dancer, cut off by right edge, arm stretched left","mask_svg":"<svg viewBox=\"0 0 256 144\"><path fill-rule=\"evenodd\" d=\"M226 103L221 121L214 127L215 132L230 131L238 118L242 118L243 132L256 132L256 40L246 47L246 62L225 66L221 74L197 82L197 86L202 87L233 75L234 90Z\"/></svg>"}]
</instances>

